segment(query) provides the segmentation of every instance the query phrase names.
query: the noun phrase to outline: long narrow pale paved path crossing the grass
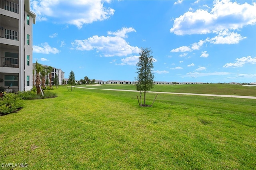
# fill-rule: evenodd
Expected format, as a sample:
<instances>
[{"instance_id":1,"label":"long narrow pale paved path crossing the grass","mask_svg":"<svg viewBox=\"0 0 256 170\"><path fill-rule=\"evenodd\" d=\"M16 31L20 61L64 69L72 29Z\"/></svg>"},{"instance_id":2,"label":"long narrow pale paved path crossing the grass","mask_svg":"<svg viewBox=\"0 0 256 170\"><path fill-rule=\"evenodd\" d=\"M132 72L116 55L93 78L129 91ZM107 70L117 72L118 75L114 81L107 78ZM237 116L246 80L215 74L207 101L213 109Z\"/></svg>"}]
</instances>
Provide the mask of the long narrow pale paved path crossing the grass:
<instances>
[{"instance_id":1,"label":"long narrow pale paved path crossing the grass","mask_svg":"<svg viewBox=\"0 0 256 170\"><path fill-rule=\"evenodd\" d=\"M87 88L87 87L76 87L82 89L96 89L96 88ZM136 90L122 90L122 89L96 89L96 90L112 90L112 91L132 91L138 92ZM196 95L196 96L214 96L214 97L233 97L233 98L243 98L243 99L256 99L254 96L237 96L237 95L212 95L212 94L196 94L196 93L172 93L172 92L158 92L158 91L149 91L148 93L163 93L163 94L175 94L175 95Z\"/></svg>"}]
</instances>

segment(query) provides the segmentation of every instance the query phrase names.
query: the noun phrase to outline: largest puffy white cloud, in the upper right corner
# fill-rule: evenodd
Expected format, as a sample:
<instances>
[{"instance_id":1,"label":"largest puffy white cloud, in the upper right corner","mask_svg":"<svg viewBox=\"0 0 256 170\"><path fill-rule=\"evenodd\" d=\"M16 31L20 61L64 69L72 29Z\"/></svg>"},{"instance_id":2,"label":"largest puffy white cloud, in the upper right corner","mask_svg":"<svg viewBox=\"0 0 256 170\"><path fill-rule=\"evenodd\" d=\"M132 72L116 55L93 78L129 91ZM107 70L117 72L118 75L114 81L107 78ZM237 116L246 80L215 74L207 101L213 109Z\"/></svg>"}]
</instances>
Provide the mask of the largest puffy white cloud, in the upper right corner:
<instances>
[{"instance_id":1,"label":"largest puffy white cloud, in the upper right corner","mask_svg":"<svg viewBox=\"0 0 256 170\"><path fill-rule=\"evenodd\" d=\"M237 30L256 24L256 3L238 4L230 0L215 0L210 12L198 9L186 12L174 20L170 32L177 35L208 34L216 30Z\"/></svg>"}]
</instances>

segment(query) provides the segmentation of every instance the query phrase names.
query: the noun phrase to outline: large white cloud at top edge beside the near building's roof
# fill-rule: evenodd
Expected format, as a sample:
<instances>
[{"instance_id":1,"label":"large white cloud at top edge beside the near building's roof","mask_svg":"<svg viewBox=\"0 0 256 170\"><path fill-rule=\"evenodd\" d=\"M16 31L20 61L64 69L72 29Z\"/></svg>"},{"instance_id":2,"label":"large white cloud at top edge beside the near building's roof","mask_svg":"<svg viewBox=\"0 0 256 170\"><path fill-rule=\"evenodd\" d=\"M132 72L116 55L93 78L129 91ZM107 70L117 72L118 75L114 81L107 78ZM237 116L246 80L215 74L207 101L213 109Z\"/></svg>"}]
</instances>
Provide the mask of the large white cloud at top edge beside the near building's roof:
<instances>
[{"instance_id":1,"label":"large white cloud at top edge beside the near building's roof","mask_svg":"<svg viewBox=\"0 0 256 170\"><path fill-rule=\"evenodd\" d=\"M114 9L104 7L104 2L110 0L30 0L30 8L36 13L37 21L52 18L56 23L82 28L84 24L106 20L114 14Z\"/></svg>"}]
</instances>

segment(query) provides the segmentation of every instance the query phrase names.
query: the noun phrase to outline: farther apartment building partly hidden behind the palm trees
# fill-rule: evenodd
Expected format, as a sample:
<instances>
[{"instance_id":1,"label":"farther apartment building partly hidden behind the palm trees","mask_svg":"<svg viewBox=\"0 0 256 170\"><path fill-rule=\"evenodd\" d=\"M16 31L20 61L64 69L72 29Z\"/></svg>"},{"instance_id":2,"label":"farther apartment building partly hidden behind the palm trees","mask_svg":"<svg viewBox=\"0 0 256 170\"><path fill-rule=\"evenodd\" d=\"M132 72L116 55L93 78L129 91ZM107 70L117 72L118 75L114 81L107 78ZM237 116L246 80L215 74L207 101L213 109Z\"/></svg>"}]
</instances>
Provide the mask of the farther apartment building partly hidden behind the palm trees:
<instances>
[{"instance_id":1,"label":"farther apartment building partly hidden behind the palm trees","mask_svg":"<svg viewBox=\"0 0 256 170\"><path fill-rule=\"evenodd\" d=\"M35 65L35 63L33 63L33 66ZM43 65L42 64L42 66L43 67L49 67L48 65ZM33 69L34 69L34 67L33 67ZM36 70L34 71L34 73L36 74ZM55 68L55 67L52 67L52 72L51 72L51 74L52 74L52 79L50 80L50 82L49 83L52 83L52 85L54 85L54 78L55 77L58 77L58 81L59 81L59 83L58 83L58 85L64 85L64 77L65 77L65 72L63 72L61 69L57 69L57 68ZM35 75L34 75L35 76ZM45 76L45 79L49 79L49 75L46 75ZM34 80L36 80L36 78L34 78ZM35 82L34 82L35 83Z\"/></svg>"}]
</instances>

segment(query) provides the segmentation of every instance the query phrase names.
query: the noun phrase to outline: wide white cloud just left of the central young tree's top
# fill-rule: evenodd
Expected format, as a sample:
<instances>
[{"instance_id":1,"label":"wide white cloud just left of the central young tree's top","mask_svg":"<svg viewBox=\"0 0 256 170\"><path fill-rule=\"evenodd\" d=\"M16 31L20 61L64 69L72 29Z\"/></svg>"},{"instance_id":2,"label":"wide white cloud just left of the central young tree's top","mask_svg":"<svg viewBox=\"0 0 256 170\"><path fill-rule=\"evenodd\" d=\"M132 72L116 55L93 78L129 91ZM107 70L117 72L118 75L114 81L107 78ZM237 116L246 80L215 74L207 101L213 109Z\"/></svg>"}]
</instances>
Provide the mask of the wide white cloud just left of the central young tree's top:
<instances>
[{"instance_id":1,"label":"wide white cloud just left of the central young tree's top","mask_svg":"<svg viewBox=\"0 0 256 170\"><path fill-rule=\"evenodd\" d=\"M123 28L117 32L111 33L118 36L92 36L87 40L75 40L72 42L72 45L75 49L81 51L90 51L96 49L97 52L100 51L103 53L105 57L112 57L115 55L126 56L132 53L139 53L140 49L138 47L131 46L128 42L126 42L126 40L124 40L124 37L127 37L126 29L127 28ZM130 32L130 30L128 32Z\"/></svg>"}]
</instances>

